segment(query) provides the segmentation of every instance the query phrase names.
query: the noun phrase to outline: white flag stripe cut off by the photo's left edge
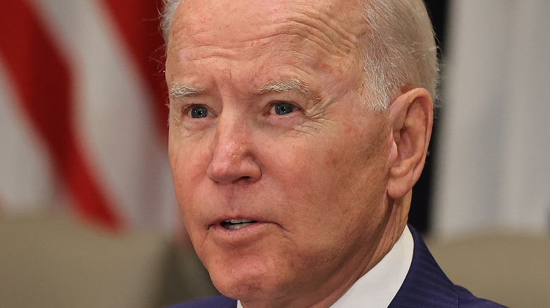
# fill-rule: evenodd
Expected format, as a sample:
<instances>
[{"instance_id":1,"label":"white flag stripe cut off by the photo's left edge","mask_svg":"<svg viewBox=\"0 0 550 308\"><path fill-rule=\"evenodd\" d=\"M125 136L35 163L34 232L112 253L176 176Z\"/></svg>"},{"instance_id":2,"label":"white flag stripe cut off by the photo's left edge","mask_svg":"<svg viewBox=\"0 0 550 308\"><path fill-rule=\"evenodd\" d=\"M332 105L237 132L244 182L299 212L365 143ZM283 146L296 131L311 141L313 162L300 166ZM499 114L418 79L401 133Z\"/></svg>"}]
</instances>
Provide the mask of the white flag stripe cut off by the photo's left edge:
<instances>
[{"instance_id":1,"label":"white flag stripe cut off by the photo's left edge","mask_svg":"<svg viewBox=\"0 0 550 308\"><path fill-rule=\"evenodd\" d=\"M0 58L1 212L41 212L55 201L54 174L42 140L18 106L17 94Z\"/></svg>"}]
</instances>

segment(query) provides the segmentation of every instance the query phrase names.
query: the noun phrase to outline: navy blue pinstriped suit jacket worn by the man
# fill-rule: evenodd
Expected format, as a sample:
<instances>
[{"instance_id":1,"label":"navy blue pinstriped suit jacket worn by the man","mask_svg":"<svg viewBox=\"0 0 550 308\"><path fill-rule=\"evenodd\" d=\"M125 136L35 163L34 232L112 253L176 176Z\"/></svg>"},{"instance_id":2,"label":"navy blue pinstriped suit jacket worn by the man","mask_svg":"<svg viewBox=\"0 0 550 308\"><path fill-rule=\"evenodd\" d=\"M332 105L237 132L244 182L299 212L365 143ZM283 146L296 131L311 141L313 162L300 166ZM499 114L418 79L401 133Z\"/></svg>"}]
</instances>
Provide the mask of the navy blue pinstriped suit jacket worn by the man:
<instances>
[{"instance_id":1,"label":"navy blue pinstriped suit jacket worn by the man","mask_svg":"<svg viewBox=\"0 0 550 308\"><path fill-rule=\"evenodd\" d=\"M410 269L399 289L393 297L390 308L496 308L500 304L475 297L470 291L452 283L434 257L429 252L424 240L417 231L409 226L415 248L412 254ZM176 304L171 308L236 308L237 301L224 295L194 300ZM367 307L365 307L367 308Z\"/></svg>"}]
</instances>

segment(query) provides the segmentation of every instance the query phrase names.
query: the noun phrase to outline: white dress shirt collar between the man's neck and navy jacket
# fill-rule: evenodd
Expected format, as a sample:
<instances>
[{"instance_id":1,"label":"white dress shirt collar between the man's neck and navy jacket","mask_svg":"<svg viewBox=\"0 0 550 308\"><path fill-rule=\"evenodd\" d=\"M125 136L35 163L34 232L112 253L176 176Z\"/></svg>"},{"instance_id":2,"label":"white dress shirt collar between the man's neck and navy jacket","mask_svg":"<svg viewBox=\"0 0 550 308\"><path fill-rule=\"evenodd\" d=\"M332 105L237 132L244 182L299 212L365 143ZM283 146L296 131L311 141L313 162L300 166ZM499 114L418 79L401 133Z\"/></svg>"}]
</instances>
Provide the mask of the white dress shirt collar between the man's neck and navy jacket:
<instances>
[{"instance_id":1,"label":"white dress shirt collar between the man's neck and navy jacket","mask_svg":"<svg viewBox=\"0 0 550 308\"><path fill-rule=\"evenodd\" d=\"M387 308L405 281L414 245L409 227L405 226L403 234L386 256L355 281L330 308ZM240 301L237 308L243 308Z\"/></svg>"}]
</instances>

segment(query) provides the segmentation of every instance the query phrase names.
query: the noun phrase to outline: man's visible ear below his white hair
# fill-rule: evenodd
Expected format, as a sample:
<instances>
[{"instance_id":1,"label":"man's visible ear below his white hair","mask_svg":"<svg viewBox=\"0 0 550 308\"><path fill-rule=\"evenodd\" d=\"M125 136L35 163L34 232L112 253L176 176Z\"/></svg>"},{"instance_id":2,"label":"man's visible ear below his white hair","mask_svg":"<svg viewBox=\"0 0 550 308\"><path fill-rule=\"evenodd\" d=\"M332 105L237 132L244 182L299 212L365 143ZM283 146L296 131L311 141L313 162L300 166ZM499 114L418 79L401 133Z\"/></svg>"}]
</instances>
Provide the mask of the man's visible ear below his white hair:
<instances>
[{"instance_id":1,"label":"man's visible ear below his white hair","mask_svg":"<svg viewBox=\"0 0 550 308\"><path fill-rule=\"evenodd\" d=\"M388 195L403 198L420 178L434 122L434 104L426 89L401 93L389 107L393 144Z\"/></svg>"}]
</instances>

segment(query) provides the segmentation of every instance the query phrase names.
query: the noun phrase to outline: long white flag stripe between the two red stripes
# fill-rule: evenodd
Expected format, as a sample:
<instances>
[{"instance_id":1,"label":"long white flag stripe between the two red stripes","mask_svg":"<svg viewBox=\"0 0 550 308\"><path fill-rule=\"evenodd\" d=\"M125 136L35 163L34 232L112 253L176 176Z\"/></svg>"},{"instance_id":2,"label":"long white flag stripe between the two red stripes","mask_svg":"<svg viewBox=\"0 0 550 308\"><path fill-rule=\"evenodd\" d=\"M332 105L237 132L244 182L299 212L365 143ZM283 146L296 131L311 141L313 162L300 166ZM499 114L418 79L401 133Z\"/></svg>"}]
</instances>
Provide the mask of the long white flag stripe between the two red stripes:
<instances>
[{"instance_id":1,"label":"long white flag stripe between the two red stripes","mask_svg":"<svg viewBox=\"0 0 550 308\"><path fill-rule=\"evenodd\" d=\"M75 76L75 124L116 212L133 226L171 229L179 217L151 95L97 1L38 0Z\"/></svg>"}]
</instances>

